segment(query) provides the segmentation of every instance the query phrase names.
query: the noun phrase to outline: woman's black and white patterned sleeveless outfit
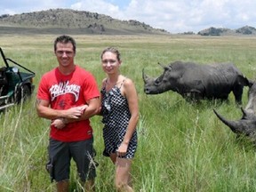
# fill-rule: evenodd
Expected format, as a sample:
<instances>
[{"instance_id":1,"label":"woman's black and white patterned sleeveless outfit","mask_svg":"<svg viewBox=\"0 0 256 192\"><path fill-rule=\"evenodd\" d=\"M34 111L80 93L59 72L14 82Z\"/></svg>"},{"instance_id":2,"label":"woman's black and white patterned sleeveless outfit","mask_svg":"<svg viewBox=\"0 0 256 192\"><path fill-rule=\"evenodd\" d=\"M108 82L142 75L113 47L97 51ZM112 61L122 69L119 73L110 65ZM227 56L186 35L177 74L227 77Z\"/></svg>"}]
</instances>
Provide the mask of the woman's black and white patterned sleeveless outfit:
<instances>
[{"instance_id":1,"label":"woman's black and white patterned sleeveless outfit","mask_svg":"<svg viewBox=\"0 0 256 192\"><path fill-rule=\"evenodd\" d=\"M125 81L125 79L124 79ZM102 102L102 123L105 124L103 129L103 138L105 150L103 155L108 156L110 153L115 153L116 149L124 140L124 134L127 130L131 113L128 106L128 101L121 94L121 87L114 86L109 92L104 86L101 90ZM124 158L132 158L137 148L137 132L133 132L130 140L128 151Z\"/></svg>"}]
</instances>

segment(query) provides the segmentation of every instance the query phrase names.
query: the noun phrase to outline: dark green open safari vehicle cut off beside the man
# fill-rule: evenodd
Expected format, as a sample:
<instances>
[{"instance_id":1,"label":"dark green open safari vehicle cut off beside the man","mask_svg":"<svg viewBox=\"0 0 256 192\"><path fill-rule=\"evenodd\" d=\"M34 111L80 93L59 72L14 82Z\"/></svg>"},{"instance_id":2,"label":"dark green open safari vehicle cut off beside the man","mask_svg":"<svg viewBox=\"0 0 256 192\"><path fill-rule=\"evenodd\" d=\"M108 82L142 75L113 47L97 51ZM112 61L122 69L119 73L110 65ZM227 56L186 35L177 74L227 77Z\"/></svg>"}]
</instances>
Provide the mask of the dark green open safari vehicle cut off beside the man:
<instances>
[{"instance_id":1,"label":"dark green open safari vehicle cut off beside the man","mask_svg":"<svg viewBox=\"0 0 256 192\"><path fill-rule=\"evenodd\" d=\"M19 63L6 58L0 47L0 111L26 100L35 89L36 74Z\"/></svg>"}]
</instances>

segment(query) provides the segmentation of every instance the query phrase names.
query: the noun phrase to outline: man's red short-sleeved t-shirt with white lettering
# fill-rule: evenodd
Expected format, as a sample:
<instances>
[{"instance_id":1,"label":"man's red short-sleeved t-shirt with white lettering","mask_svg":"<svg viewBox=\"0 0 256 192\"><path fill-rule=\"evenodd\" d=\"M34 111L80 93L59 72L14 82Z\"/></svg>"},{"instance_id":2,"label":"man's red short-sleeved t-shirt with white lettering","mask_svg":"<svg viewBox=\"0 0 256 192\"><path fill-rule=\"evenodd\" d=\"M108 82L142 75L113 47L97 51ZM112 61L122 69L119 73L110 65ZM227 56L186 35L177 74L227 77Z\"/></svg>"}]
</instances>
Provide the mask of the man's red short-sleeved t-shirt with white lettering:
<instances>
[{"instance_id":1,"label":"man's red short-sleeved t-shirt with white lettering","mask_svg":"<svg viewBox=\"0 0 256 192\"><path fill-rule=\"evenodd\" d=\"M51 108L68 109L86 104L86 100L100 97L97 83L91 73L76 66L73 73L64 76L54 68L42 76L37 99L49 100ZM63 129L51 126L50 137L60 141L78 141L92 138L90 120L67 124Z\"/></svg>"}]
</instances>

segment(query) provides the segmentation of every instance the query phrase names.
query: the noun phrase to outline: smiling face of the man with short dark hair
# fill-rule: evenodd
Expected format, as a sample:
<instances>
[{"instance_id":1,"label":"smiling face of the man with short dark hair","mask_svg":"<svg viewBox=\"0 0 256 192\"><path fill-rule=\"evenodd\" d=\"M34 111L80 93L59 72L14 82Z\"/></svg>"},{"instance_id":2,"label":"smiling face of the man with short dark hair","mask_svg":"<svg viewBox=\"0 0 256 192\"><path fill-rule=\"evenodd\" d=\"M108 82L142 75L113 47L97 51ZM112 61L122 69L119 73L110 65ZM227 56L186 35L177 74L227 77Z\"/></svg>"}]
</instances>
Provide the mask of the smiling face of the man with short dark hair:
<instances>
[{"instance_id":1,"label":"smiling face of the man with short dark hair","mask_svg":"<svg viewBox=\"0 0 256 192\"><path fill-rule=\"evenodd\" d=\"M73 44L56 44L55 55L60 67L68 68L74 65L74 57L76 53L73 51Z\"/></svg>"}]
</instances>

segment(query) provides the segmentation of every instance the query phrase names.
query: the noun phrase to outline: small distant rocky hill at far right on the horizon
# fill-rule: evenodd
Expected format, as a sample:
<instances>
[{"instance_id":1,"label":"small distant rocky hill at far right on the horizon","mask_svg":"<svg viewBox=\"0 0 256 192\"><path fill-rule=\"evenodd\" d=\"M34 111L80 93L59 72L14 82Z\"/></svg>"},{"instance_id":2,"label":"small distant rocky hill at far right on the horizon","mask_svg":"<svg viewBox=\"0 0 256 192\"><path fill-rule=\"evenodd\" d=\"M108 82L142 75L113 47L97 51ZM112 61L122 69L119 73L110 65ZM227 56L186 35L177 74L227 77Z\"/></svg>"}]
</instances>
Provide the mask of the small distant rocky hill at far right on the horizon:
<instances>
[{"instance_id":1,"label":"small distant rocky hill at far right on the horizon","mask_svg":"<svg viewBox=\"0 0 256 192\"><path fill-rule=\"evenodd\" d=\"M239 36L239 35L256 35L256 28L244 26L235 30L229 28L206 28L198 32L201 36Z\"/></svg>"}]
</instances>

